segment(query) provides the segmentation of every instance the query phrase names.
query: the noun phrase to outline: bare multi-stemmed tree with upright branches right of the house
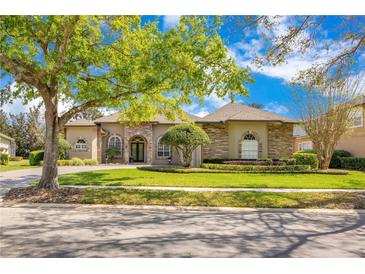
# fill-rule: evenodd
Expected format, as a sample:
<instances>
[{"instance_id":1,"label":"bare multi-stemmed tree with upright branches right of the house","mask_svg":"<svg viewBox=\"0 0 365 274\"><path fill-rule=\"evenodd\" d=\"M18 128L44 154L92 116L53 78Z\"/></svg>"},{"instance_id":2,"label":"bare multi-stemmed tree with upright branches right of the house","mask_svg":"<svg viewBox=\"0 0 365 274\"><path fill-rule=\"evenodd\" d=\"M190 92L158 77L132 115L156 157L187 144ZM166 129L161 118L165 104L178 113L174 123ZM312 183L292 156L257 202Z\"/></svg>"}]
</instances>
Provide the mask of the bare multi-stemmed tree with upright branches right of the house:
<instances>
[{"instance_id":1,"label":"bare multi-stemmed tree with upright branches right of the house","mask_svg":"<svg viewBox=\"0 0 365 274\"><path fill-rule=\"evenodd\" d=\"M328 169L341 136L353 122L357 104L363 101L364 76L339 82L330 80L315 90L307 87L296 93L296 106L304 129L313 142L321 169Z\"/></svg>"}]
</instances>

